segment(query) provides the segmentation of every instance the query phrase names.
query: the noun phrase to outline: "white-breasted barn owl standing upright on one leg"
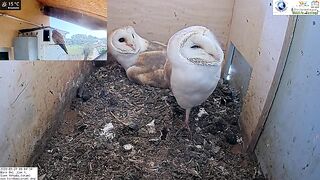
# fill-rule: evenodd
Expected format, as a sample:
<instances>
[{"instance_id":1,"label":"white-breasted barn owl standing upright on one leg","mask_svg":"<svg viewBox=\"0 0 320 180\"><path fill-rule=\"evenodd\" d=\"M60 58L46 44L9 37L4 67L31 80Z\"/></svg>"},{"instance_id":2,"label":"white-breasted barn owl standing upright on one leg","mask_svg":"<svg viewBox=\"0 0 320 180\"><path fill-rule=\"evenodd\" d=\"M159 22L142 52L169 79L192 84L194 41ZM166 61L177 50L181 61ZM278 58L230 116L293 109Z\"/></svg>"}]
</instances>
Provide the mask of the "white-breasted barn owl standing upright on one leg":
<instances>
[{"instance_id":1,"label":"white-breasted barn owl standing upright on one leg","mask_svg":"<svg viewBox=\"0 0 320 180\"><path fill-rule=\"evenodd\" d=\"M179 106L186 110L184 127L190 131L190 111L215 90L224 54L209 29L191 26L169 39L167 56L171 64L171 90Z\"/></svg>"}]
</instances>

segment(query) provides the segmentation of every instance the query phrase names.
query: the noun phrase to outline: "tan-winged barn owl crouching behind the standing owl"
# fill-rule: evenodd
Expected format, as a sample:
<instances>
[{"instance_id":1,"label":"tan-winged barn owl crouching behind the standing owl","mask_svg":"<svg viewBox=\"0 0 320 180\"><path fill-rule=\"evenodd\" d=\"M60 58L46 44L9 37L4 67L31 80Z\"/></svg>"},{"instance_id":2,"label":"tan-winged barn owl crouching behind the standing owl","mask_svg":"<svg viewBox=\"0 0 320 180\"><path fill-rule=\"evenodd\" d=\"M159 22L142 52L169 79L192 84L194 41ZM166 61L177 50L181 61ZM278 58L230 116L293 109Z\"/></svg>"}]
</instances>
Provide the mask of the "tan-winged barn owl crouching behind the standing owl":
<instances>
[{"instance_id":1,"label":"tan-winged barn owl crouching behind the standing owl","mask_svg":"<svg viewBox=\"0 0 320 180\"><path fill-rule=\"evenodd\" d=\"M125 69L129 80L141 85L169 87L165 45L147 41L131 26L116 29L108 37L108 50Z\"/></svg>"}]
</instances>

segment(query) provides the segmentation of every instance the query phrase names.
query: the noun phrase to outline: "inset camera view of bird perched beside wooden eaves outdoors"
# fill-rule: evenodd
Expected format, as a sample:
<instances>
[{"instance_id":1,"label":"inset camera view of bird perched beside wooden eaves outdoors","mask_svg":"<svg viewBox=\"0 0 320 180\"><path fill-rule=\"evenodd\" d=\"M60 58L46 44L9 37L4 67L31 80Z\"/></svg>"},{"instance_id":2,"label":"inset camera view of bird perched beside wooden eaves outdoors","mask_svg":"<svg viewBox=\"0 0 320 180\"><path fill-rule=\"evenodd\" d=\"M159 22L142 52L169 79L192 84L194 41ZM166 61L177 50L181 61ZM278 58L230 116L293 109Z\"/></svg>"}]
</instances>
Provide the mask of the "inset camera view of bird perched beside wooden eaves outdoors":
<instances>
[{"instance_id":1,"label":"inset camera view of bird perched beside wooden eaves outdoors","mask_svg":"<svg viewBox=\"0 0 320 180\"><path fill-rule=\"evenodd\" d=\"M105 0L25 0L0 24L0 60L107 59Z\"/></svg>"}]
</instances>

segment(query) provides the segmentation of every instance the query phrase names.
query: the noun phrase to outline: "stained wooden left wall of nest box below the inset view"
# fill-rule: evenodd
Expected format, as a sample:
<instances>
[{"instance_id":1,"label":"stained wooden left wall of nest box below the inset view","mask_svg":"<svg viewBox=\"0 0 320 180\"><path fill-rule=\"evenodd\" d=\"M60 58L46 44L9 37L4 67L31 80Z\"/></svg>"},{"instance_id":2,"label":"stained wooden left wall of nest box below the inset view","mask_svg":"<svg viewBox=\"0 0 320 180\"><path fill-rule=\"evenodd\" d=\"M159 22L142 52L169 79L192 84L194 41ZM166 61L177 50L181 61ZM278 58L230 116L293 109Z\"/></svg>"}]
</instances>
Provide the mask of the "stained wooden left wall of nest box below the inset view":
<instances>
[{"instance_id":1,"label":"stained wooden left wall of nest box below the inset view","mask_svg":"<svg viewBox=\"0 0 320 180\"><path fill-rule=\"evenodd\" d=\"M0 166L24 166L91 69L88 61L0 62Z\"/></svg>"}]
</instances>

